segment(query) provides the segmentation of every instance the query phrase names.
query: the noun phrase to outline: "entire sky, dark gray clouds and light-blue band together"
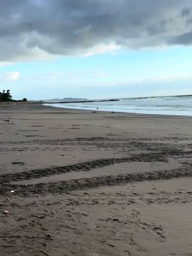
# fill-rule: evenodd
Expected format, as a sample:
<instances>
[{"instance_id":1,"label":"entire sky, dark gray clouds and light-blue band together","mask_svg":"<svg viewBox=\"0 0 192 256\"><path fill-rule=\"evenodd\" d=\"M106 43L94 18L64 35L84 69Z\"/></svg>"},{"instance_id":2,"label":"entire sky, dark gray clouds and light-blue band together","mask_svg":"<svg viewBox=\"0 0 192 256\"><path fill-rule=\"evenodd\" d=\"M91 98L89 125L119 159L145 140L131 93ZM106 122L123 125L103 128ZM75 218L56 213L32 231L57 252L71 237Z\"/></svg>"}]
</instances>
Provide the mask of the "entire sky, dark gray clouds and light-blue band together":
<instances>
[{"instance_id":1,"label":"entire sky, dark gray clouds and light-blue band together","mask_svg":"<svg viewBox=\"0 0 192 256\"><path fill-rule=\"evenodd\" d=\"M0 0L14 99L192 94L191 0Z\"/></svg>"}]
</instances>

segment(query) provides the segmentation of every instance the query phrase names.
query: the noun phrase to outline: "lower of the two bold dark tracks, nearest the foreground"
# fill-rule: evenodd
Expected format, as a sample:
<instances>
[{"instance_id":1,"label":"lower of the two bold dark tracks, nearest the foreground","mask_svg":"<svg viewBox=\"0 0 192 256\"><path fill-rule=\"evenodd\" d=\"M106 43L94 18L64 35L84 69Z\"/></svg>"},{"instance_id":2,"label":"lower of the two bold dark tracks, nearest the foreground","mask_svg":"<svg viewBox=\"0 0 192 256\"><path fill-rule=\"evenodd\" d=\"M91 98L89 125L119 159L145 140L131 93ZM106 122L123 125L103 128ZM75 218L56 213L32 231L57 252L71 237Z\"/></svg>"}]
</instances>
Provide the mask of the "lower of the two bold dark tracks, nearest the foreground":
<instances>
[{"instance_id":1,"label":"lower of the two bold dark tracks, nearest the foreground","mask_svg":"<svg viewBox=\"0 0 192 256\"><path fill-rule=\"evenodd\" d=\"M92 189L103 186L116 186L128 184L130 182L142 182L145 180L168 180L173 178L192 177L191 168L179 168L161 172L129 173L126 175L109 175L93 177L90 179L68 180L61 182L39 183L33 185L6 184L0 188L0 195L7 195L10 189L15 189L15 193L21 196L31 194L44 195L47 193L70 193L74 190Z\"/></svg>"}]
</instances>

